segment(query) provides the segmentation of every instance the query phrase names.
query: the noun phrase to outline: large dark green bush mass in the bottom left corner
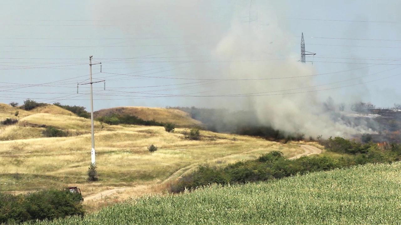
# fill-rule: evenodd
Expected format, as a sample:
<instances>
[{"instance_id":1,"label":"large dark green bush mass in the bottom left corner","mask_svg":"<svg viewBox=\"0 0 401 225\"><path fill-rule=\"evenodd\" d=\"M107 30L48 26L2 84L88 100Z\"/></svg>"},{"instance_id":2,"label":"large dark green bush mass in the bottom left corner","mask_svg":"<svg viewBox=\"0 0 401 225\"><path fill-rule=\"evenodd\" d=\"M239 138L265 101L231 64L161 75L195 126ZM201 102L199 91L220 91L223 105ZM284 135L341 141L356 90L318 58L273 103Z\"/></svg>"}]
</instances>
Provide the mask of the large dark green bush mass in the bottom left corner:
<instances>
[{"instance_id":1,"label":"large dark green bush mass in the bottom left corner","mask_svg":"<svg viewBox=\"0 0 401 225\"><path fill-rule=\"evenodd\" d=\"M30 220L83 216L81 196L69 190L51 189L25 195L0 193L0 223L13 224Z\"/></svg>"}]
</instances>

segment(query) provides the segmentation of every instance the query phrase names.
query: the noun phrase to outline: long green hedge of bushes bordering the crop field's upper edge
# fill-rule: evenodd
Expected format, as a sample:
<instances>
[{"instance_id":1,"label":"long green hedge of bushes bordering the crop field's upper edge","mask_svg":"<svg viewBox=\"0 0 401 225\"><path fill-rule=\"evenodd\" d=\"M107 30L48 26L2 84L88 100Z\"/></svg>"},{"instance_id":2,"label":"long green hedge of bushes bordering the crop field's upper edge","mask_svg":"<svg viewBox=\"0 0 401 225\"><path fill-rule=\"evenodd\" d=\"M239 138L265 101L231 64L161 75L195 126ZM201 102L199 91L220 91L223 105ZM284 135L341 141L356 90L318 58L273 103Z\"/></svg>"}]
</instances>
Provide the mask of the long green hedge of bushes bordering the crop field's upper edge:
<instances>
[{"instance_id":1,"label":"long green hedge of bushes bordering the crop field's upper edge","mask_svg":"<svg viewBox=\"0 0 401 225\"><path fill-rule=\"evenodd\" d=\"M342 155L334 157L331 156L333 154L321 154L285 159L283 153L271 151L257 160L240 161L226 167L203 165L172 184L170 191L178 193L212 183L227 185L267 181L367 163L391 163L401 159L401 145L396 144L390 145L387 149L379 149L373 143L361 144L341 137L334 139L330 137L324 141L324 145L329 152Z\"/></svg>"}]
</instances>

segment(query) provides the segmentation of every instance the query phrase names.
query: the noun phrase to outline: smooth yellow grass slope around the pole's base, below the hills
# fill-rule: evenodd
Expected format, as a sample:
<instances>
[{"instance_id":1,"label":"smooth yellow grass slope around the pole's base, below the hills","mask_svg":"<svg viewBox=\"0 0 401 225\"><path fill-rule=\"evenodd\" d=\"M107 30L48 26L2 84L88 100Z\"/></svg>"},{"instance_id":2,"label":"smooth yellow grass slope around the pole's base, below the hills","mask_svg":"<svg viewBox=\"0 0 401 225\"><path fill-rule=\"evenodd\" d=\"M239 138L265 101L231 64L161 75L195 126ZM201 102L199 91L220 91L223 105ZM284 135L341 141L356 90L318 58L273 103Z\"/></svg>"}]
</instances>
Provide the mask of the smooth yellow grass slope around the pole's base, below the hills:
<instances>
[{"instance_id":1,"label":"smooth yellow grass slope around the pole's base, below the hills","mask_svg":"<svg viewBox=\"0 0 401 225\"><path fill-rule=\"evenodd\" d=\"M101 180L87 183L90 135L0 142L0 183L4 191L77 185L87 196L113 187L158 183L180 168L197 163L230 163L253 159L271 150L287 156L302 152L288 146L252 137L202 132L220 139L189 141L163 127L126 127L121 131L99 131L95 135L96 163ZM150 153L154 144L158 151Z\"/></svg>"}]
</instances>

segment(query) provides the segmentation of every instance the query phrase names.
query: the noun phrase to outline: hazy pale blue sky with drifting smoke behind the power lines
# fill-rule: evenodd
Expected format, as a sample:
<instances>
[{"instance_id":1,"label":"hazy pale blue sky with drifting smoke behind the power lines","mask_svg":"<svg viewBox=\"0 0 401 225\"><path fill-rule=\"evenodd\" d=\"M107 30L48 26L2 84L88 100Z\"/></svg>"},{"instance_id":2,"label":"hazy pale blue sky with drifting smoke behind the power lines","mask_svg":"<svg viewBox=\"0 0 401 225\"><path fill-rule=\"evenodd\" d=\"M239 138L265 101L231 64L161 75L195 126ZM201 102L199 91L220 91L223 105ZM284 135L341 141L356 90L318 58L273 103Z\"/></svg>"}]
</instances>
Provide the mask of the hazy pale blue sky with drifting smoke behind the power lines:
<instances>
[{"instance_id":1,"label":"hazy pale blue sky with drifting smoke behind the power lines","mask_svg":"<svg viewBox=\"0 0 401 225\"><path fill-rule=\"evenodd\" d=\"M101 62L92 66L94 110L242 109L255 93L253 104L306 92L391 107L401 103L400 8L396 0L4 1L0 102L89 110L93 56ZM305 65L302 32L316 53Z\"/></svg>"}]
</instances>

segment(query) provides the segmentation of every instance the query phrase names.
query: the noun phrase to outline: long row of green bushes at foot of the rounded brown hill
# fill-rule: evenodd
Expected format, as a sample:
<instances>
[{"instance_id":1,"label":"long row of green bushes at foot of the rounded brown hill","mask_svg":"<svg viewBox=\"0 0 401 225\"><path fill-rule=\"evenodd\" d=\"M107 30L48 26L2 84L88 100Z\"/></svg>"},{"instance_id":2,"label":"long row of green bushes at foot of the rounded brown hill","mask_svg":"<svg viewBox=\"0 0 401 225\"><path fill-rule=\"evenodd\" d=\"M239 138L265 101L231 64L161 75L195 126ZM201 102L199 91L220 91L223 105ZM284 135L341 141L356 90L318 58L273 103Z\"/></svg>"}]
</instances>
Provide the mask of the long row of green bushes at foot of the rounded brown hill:
<instances>
[{"instance_id":1,"label":"long row of green bushes at foot of the rounded brown hill","mask_svg":"<svg viewBox=\"0 0 401 225\"><path fill-rule=\"evenodd\" d=\"M109 125L129 124L129 125L145 125L145 126L164 126L163 123L159 123L155 120L146 121L136 116L118 115L118 114L98 117L97 121L100 121L102 123L107 123Z\"/></svg>"}]
</instances>

